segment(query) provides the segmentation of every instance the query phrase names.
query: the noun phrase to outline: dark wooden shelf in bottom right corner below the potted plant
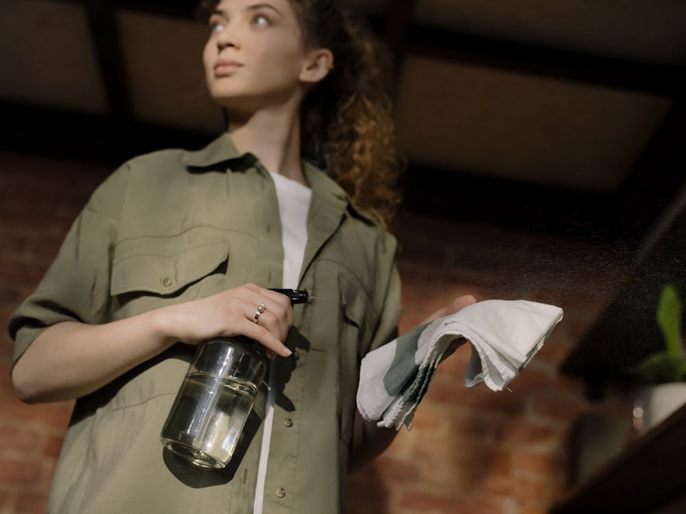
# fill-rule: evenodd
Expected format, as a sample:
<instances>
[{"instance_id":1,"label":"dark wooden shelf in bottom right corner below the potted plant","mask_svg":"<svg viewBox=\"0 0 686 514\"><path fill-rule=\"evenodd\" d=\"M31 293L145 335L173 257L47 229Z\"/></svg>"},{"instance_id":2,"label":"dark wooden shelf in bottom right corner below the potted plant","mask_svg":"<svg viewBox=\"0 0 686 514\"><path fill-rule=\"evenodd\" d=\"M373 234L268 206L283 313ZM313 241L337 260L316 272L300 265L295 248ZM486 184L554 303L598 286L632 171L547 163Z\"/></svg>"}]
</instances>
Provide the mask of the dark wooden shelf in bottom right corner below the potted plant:
<instances>
[{"instance_id":1,"label":"dark wooden shelf in bottom right corner below the potted plant","mask_svg":"<svg viewBox=\"0 0 686 514\"><path fill-rule=\"evenodd\" d=\"M686 495L686 405L628 445L550 514L646 514Z\"/></svg>"}]
</instances>

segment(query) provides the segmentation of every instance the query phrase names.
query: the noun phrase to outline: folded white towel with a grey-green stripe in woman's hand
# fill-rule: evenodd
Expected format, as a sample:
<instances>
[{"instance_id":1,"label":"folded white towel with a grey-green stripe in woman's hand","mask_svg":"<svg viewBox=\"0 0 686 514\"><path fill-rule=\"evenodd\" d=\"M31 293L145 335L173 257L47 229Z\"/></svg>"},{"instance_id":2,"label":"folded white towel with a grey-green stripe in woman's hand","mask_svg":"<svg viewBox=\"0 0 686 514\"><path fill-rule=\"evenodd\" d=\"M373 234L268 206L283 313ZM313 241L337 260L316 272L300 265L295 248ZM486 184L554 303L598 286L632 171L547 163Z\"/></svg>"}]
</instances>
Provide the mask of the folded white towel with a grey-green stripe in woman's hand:
<instances>
[{"instance_id":1,"label":"folded white towel with a grey-green stripe in woman's hand","mask_svg":"<svg viewBox=\"0 0 686 514\"><path fill-rule=\"evenodd\" d=\"M480 382L501 391L528 365L563 310L528 300L486 300L436 319L394 339L362 359L357 408L367 421L400 430L412 428L436 366L452 341L472 346L464 373L466 387Z\"/></svg>"}]
</instances>

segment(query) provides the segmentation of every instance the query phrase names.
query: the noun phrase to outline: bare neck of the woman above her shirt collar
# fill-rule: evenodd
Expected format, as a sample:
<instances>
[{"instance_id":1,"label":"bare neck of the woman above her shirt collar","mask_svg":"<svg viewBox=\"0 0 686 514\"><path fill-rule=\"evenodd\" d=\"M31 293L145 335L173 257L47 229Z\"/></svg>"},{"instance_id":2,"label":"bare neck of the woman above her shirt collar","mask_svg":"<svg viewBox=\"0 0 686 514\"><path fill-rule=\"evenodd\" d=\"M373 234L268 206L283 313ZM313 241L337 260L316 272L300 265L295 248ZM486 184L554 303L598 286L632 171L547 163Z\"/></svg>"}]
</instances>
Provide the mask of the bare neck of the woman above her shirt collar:
<instances>
[{"instance_id":1,"label":"bare neck of the woman above her shirt collar","mask_svg":"<svg viewBox=\"0 0 686 514\"><path fill-rule=\"evenodd\" d=\"M272 173L306 184L300 166L300 110L290 103L249 114L231 112L228 132L238 151L255 154Z\"/></svg>"}]
</instances>

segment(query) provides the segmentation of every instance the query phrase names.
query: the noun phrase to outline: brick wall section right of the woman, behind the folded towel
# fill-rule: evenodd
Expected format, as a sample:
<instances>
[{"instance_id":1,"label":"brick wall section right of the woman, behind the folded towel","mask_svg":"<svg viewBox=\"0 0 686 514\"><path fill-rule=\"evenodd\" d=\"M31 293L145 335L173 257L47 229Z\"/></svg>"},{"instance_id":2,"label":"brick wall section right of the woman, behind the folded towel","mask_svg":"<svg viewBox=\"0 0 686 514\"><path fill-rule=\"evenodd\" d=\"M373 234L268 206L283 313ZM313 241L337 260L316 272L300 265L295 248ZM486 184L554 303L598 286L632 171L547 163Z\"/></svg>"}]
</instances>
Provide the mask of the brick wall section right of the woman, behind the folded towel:
<instances>
[{"instance_id":1,"label":"brick wall section right of the woman, behind the folded towel","mask_svg":"<svg viewBox=\"0 0 686 514\"><path fill-rule=\"evenodd\" d=\"M600 242L418 215L399 227L401 332L464 293L556 304L565 319L512 393L464 387L469 347L442 363L412 431L401 430L386 453L350 476L348 514L546 512L565 492L576 417L602 409L628 418L621 395L590 404L583 384L557 371L611 298L624 256Z\"/></svg>"}]
</instances>

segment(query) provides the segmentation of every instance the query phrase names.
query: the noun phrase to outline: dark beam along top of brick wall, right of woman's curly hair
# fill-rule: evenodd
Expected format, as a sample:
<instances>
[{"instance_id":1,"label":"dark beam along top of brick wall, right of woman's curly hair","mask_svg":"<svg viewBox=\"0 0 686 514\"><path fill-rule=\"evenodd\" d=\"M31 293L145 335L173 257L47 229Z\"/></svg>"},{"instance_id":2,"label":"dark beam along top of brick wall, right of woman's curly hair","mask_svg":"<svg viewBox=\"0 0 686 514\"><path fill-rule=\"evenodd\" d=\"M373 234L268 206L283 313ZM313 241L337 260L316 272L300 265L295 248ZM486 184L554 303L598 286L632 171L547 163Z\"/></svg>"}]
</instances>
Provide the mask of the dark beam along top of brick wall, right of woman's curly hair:
<instances>
[{"instance_id":1,"label":"dark beam along top of brick wall, right of woman's curly hair","mask_svg":"<svg viewBox=\"0 0 686 514\"><path fill-rule=\"evenodd\" d=\"M403 190L403 206L413 212L602 241L628 252L635 251L635 242L652 222L624 226L612 215L622 200L617 195L489 177L464 169L410 163Z\"/></svg>"}]
</instances>

